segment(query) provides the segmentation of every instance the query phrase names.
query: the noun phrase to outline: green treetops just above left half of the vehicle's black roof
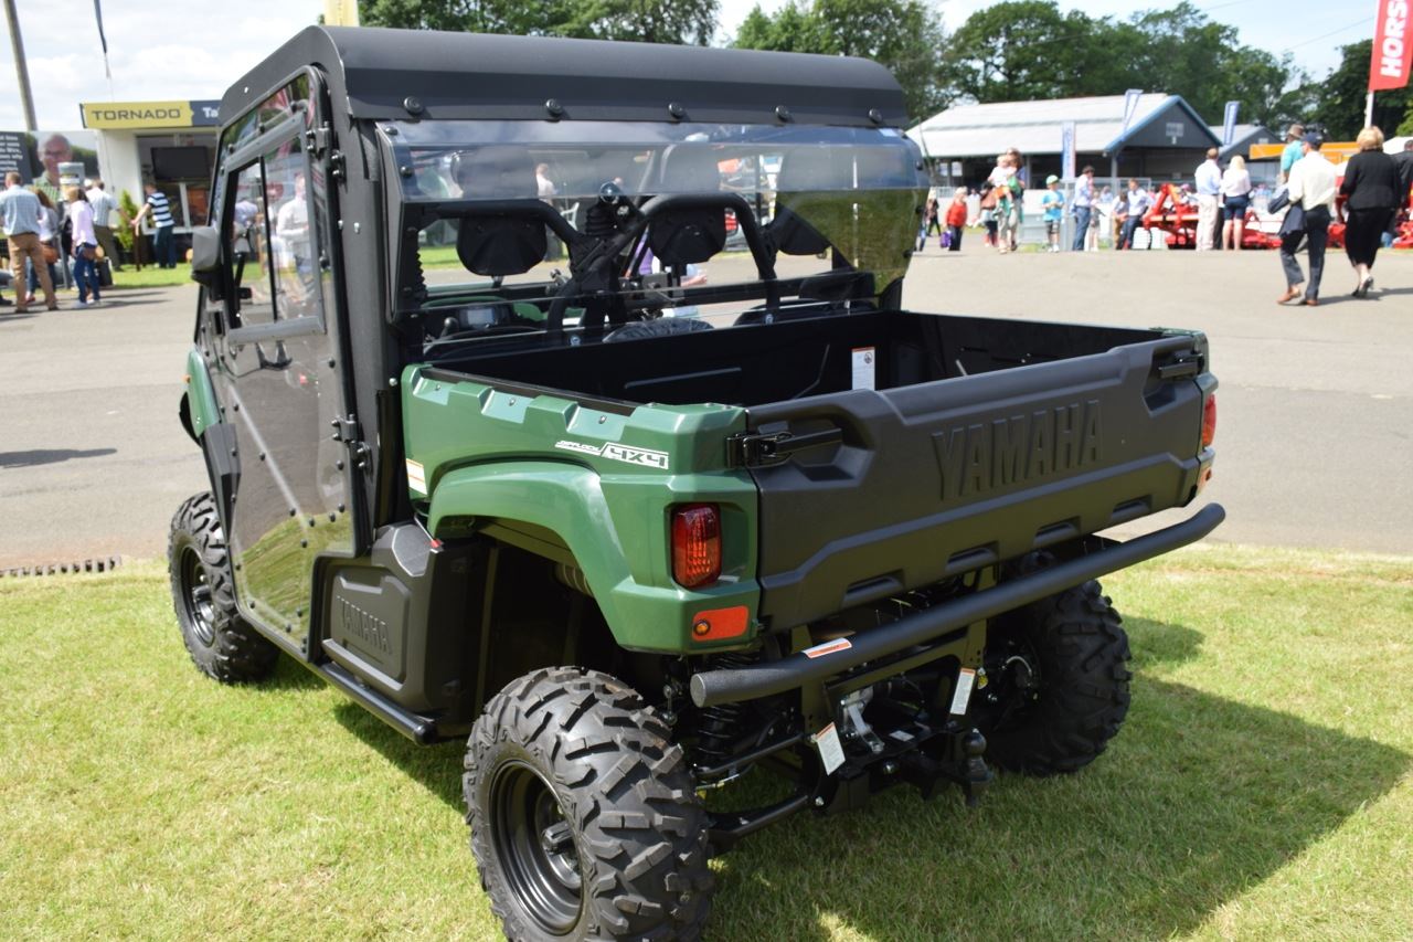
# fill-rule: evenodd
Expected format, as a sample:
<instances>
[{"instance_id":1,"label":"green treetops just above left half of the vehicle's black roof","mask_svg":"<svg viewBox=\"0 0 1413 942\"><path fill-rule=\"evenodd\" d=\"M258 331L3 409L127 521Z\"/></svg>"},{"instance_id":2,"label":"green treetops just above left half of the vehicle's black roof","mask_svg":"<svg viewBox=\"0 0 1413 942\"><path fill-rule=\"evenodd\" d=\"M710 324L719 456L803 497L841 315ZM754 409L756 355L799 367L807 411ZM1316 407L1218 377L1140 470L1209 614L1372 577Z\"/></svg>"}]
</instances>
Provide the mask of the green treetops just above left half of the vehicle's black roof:
<instances>
[{"instance_id":1,"label":"green treetops just above left half of the vehicle's black roof","mask_svg":"<svg viewBox=\"0 0 1413 942\"><path fill-rule=\"evenodd\" d=\"M366 0L367 25L705 45L718 0Z\"/></svg>"}]
</instances>

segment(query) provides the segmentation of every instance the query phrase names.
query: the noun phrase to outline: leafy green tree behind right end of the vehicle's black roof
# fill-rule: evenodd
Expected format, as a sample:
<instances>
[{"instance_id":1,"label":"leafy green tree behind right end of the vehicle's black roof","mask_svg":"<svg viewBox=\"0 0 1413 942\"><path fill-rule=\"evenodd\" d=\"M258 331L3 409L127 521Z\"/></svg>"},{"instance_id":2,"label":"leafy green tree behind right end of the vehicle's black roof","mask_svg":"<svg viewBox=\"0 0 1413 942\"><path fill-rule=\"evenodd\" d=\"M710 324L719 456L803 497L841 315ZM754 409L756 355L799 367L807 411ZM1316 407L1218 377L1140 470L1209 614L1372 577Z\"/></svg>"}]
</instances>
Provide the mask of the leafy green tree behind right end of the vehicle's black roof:
<instances>
[{"instance_id":1,"label":"leafy green tree behind right end of the vehicle's black roof","mask_svg":"<svg viewBox=\"0 0 1413 942\"><path fill-rule=\"evenodd\" d=\"M774 16L756 6L732 42L742 50L858 55L887 66L907 110L923 119L950 100L941 18L923 0L791 0Z\"/></svg>"}]
</instances>

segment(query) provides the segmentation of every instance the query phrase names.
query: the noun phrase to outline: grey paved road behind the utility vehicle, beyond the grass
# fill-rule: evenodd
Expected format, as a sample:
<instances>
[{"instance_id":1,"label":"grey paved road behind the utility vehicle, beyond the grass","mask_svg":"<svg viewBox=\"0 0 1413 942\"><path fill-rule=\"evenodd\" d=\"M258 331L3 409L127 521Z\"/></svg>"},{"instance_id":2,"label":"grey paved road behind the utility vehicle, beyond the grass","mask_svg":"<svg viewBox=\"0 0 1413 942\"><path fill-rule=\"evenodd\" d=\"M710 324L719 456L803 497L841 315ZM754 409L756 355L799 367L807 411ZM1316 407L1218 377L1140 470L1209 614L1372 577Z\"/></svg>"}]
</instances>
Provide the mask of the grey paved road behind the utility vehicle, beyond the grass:
<instances>
[{"instance_id":1,"label":"grey paved road behind the utility vehicle, beyond the grass","mask_svg":"<svg viewBox=\"0 0 1413 942\"><path fill-rule=\"evenodd\" d=\"M736 260L712 266L729 277ZM1413 553L1413 256L1378 300L1331 255L1328 304L1277 308L1273 253L996 256L928 249L917 310L1200 327L1212 338L1217 537ZM177 423L195 289L112 293L96 311L0 308L0 567L157 556L205 488ZM1132 530L1130 530L1132 532Z\"/></svg>"}]
</instances>

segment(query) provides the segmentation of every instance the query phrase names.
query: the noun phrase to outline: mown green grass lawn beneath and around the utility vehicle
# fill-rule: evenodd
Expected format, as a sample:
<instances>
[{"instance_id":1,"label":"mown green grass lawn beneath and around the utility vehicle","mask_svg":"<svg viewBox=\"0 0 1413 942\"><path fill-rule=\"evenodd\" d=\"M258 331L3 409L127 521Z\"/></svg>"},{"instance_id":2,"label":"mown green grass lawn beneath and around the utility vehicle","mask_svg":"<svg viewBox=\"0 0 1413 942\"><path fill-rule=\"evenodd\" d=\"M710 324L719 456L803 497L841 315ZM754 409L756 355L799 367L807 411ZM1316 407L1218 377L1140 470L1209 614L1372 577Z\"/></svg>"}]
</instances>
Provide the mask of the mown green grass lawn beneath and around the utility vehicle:
<instances>
[{"instance_id":1,"label":"mown green grass lawn beneath and around the utility vehicle","mask_svg":"<svg viewBox=\"0 0 1413 942\"><path fill-rule=\"evenodd\" d=\"M715 863L709 938L1413 938L1413 560L1197 547L1106 588L1108 754L790 819ZM288 661L203 679L158 564L0 580L0 676L7 938L496 935L459 747Z\"/></svg>"}]
</instances>

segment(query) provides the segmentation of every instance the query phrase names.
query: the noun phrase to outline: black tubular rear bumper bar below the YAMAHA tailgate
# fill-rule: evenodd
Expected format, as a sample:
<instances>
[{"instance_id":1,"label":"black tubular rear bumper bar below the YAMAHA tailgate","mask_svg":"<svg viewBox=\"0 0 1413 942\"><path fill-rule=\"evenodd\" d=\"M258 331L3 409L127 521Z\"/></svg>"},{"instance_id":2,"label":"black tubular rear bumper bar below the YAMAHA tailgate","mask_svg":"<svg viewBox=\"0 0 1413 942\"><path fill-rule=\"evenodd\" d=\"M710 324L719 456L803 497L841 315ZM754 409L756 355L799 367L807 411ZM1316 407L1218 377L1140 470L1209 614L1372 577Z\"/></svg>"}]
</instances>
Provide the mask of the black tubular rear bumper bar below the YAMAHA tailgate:
<instances>
[{"instance_id":1,"label":"black tubular rear bumper bar below the YAMAHA tailgate","mask_svg":"<svg viewBox=\"0 0 1413 942\"><path fill-rule=\"evenodd\" d=\"M1195 543L1217 529L1217 525L1224 519L1226 519L1226 511L1219 504L1210 504L1181 523L1174 523L1154 533L1013 578L995 588L944 603L890 625L851 635L849 646L834 653L811 658L797 652L776 662L749 668L704 670L692 675L692 703L708 707L718 703L755 700L793 690L810 682L824 680L861 663L926 644L948 631L1029 605L1091 578Z\"/></svg>"}]
</instances>

